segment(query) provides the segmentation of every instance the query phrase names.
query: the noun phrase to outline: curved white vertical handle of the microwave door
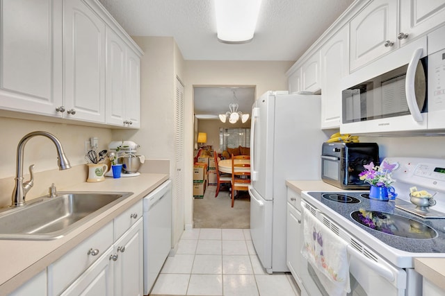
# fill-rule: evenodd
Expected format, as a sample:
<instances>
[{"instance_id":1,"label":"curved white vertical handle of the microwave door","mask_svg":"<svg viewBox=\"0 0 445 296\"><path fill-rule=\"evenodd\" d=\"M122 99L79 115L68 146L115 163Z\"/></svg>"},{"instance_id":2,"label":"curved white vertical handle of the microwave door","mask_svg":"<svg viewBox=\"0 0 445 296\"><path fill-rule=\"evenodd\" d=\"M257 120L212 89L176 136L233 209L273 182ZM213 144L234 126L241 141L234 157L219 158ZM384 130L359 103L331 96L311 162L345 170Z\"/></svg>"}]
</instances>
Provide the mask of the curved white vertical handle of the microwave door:
<instances>
[{"instance_id":1,"label":"curved white vertical handle of the microwave door","mask_svg":"<svg viewBox=\"0 0 445 296\"><path fill-rule=\"evenodd\" d=\"M419 106L417 106L416 92L414 90L414 79L416 78L417 63L419 63L422 51L423 49L416 49L416 51L414 51L410 64L408 64L405 80L406 103L408 104L408 109L410 109L412 118L416 122L423 121L421 110L419 110Z\"/></svg>"}]
</instances>

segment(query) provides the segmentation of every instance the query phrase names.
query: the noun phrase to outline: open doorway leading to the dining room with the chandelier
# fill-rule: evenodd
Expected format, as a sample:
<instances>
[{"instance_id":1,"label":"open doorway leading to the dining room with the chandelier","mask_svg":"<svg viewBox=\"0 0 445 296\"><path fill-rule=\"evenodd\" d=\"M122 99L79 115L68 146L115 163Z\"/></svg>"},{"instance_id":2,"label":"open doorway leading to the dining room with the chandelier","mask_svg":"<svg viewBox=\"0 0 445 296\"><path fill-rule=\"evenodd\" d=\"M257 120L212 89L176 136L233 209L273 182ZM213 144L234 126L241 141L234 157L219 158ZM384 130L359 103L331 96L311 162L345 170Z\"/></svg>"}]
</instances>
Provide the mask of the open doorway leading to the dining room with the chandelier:
<instances>
[{"instance_id":1,"label":"open doorway leading to the dining room with the chandelier","mask_svg":"<svg viewBox=\"0 0 445 296\"><path fill-rule=\"evenodd\" d=\"M218 157L227 146L224 145L224 134L220 130L234 128L250 129L250 115L252 104L254 103L256 87L248 86L194 86L193 87L193 105L194 105L194 161L197 161L197 155L206 150L206 154L213 157L217 153ZM236 105L236 112L249 114L249 119L242 122L241 119L235 123L229 123L220 120L219 114L227 114L234 110L230 104ZM207 135L205 143L198 143L198 134ZM250 143L246 146L250 146ZM200 149L201 148L201 149ZM232 147L233 148L233 147ZM205 159L200 158L205 161ZM193 197L193 225L199 228L250 228L250 198L248 193L240 194L235 200L234 207L231 207L231 198L229 186L221 186L218 196L216 194L216 174L214 168L208 166L207 184L205 184L204 194L194 193ZM194 181L195 182L195 181ZM194 187L195 187L194 183Z\"/></svg>"}]
</instances>

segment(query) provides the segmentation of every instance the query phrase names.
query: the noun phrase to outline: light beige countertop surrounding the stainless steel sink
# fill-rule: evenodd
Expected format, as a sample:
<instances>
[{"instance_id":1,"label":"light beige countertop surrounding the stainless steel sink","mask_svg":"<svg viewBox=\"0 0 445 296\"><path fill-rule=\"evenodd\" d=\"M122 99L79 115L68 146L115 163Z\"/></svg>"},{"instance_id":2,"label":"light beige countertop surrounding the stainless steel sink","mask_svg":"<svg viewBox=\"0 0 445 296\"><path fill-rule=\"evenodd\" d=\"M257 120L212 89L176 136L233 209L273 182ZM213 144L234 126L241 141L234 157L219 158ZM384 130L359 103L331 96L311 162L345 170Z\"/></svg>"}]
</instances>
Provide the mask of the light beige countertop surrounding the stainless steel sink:
<instances>
[{"instance_id":1,"label":"light beige countertop surrounding the stainless steel sink","mask_svg":"<svg viewBox=\"0 0 445 296\"><path fill-rule=\"evenodd\" d=\"M72 247L97 232L120 213L131 207L153 191L157 186L168 180L166 174L140 174L137 177L120 179L106 178L104 182L83 182L61 191L103 191L133 192L129 198L115 204L104 213L92 218L88 223L70 232L63 238L52 241L0 241L0 295L6 295L21 286L47 265L63 256Z\"/></svg>"}]
</instances>

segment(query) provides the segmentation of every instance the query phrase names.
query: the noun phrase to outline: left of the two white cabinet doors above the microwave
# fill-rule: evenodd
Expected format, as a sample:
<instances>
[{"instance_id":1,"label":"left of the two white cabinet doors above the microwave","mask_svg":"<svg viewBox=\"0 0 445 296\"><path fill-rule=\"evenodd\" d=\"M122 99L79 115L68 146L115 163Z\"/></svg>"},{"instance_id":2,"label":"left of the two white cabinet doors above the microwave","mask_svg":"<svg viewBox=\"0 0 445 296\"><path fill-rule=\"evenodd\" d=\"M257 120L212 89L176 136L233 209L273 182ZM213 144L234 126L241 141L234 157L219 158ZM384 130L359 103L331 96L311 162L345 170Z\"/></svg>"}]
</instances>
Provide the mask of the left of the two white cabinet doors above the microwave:
<instances>
[{"instance_id":1,"label":"left of the two white cabinet doors above the microwave","mask_svg":"<svg viewBox=\"0 0 445 296\"><path fill-rule=\"evenodd\" d=\"M398 48L397 2L373 0L351 19L350 71Z\"/></svg>"}]
</instances>

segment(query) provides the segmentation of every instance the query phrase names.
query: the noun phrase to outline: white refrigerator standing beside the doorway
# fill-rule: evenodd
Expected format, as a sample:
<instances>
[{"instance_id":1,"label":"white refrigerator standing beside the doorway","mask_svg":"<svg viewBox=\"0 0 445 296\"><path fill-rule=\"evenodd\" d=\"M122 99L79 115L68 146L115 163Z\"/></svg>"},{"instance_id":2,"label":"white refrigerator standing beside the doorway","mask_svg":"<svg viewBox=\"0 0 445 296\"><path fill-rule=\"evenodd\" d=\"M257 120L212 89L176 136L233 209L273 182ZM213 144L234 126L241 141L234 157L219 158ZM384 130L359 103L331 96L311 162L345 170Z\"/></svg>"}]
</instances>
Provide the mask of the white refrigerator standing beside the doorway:
<instances>
[{"instance_id":1,"label":"white refrigerator standing beside the doorway","mask_svg":"<svg viewBox=\"0 0 445 296\"><path fill-rule=\"evenodd\" d=\"M268 273L289 271L286 180L320 180L326 140L321 96L266 92L252 106L250 234Z\"/></svg>"}]
</instances>

